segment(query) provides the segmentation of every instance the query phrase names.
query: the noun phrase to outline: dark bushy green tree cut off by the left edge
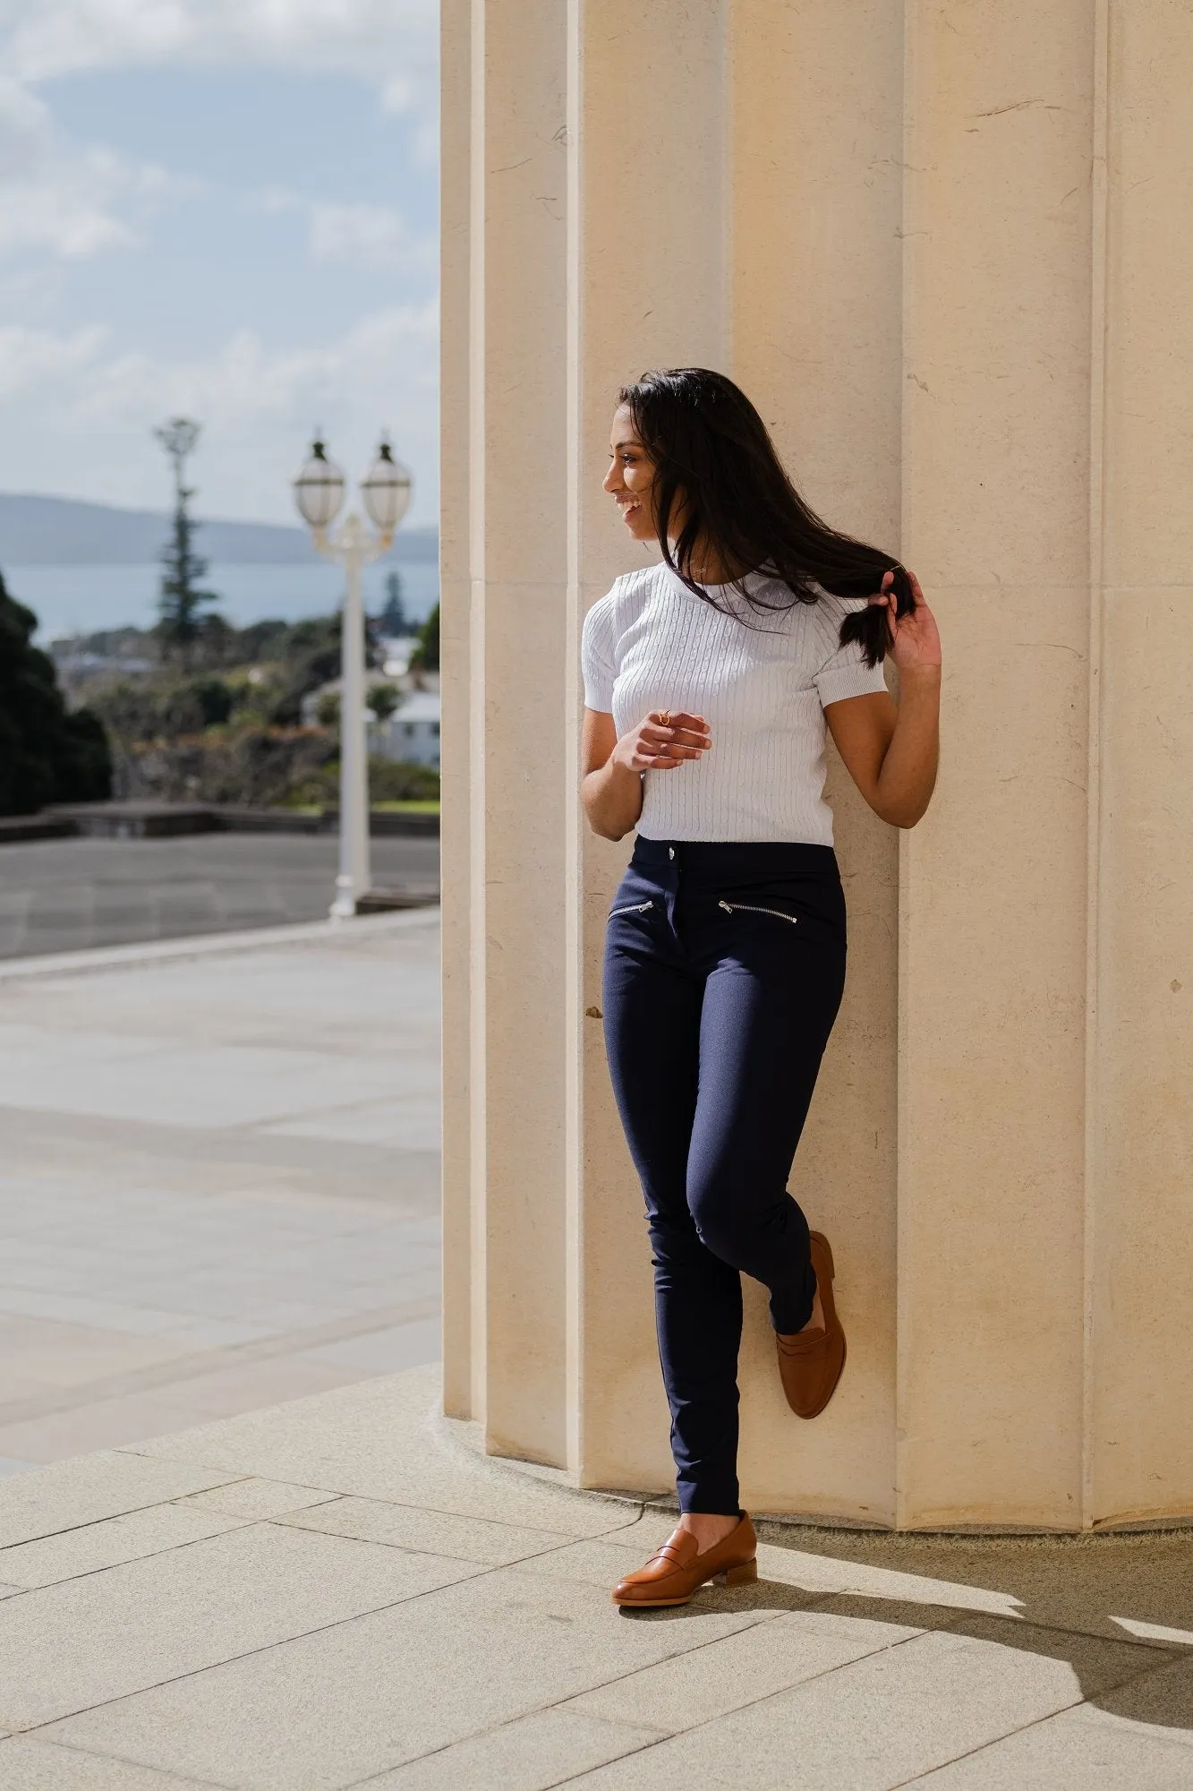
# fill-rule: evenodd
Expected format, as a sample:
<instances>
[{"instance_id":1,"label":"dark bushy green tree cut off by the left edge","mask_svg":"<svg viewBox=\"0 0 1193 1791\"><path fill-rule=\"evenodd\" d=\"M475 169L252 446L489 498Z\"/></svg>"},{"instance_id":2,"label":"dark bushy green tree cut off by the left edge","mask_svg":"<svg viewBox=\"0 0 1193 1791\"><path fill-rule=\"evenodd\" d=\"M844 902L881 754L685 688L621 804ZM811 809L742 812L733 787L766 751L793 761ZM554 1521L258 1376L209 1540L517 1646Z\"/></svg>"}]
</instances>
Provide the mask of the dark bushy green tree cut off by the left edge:
<instances>
[{"instance_id":1,"label":"dark bushy green tree cut off by the left edge","mask_svg":"<svg viewBox=\"0 0 1193 1791\"><path fill-rule=\"evenodd\" d=\"M0 815L111 795L111 750L90 709L66 709L54 661L32 645L38 618L0 575Z\"/></svg>"}]
</instances>

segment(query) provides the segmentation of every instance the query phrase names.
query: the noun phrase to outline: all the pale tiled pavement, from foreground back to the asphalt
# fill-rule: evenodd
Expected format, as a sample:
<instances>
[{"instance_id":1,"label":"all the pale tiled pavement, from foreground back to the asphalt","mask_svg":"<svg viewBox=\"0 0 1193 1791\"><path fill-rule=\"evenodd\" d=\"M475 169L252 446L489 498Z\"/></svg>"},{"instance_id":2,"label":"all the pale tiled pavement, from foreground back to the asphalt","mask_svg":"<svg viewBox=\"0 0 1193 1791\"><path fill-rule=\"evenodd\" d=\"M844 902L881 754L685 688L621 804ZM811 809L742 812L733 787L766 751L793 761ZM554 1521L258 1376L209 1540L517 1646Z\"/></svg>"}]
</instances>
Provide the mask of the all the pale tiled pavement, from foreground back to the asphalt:
<instances>
[{"instance_id":1,"label":"all the pale tiled pavement, from foreground back to the asphalt","mask_svg":"<svg viewBox=\"0 0 1193 1791\"><path fill-rule=\"evenodd\" d=\"M0 969L0 1791L1193 1791L1189 1533L623 1615L670 1519L435 1415L435 944Z\"/></svg>"}]
</instances>

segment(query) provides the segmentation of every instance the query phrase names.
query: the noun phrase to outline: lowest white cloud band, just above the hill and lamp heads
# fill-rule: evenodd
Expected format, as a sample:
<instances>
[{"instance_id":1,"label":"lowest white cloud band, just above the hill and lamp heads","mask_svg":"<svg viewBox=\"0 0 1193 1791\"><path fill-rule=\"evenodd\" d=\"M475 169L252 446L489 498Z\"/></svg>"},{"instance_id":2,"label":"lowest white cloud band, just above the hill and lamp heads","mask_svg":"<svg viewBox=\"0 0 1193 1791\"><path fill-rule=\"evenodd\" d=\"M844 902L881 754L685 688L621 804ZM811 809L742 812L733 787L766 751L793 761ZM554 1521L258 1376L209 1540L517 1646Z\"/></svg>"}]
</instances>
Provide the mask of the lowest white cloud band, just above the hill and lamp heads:
<instances>
[{"instance_id":1,"label":"lowest white cloud band, just above the hill and lamp heads","mask_svg":"<svg viewBox=\"0 0 1193 1791\"><path fill-rule=\"evenodd\" d=\"M70 335L0 330L0 396L20 394L23 426L0 437L0 489L70 489L109 503L145 503L165 471L152 426L186 414L202 423L195 462L208 516L290 519L288 480L321 424L349 471L389 428L403 460L426 469L412 521L435 514L437 315L392 306L315 347L272 349L240 330L202 360L111 353L100 328ZM88 467L86 478L77 476ZM163 500L165 501L165 496Z\"/></svg>"}]
</instances>

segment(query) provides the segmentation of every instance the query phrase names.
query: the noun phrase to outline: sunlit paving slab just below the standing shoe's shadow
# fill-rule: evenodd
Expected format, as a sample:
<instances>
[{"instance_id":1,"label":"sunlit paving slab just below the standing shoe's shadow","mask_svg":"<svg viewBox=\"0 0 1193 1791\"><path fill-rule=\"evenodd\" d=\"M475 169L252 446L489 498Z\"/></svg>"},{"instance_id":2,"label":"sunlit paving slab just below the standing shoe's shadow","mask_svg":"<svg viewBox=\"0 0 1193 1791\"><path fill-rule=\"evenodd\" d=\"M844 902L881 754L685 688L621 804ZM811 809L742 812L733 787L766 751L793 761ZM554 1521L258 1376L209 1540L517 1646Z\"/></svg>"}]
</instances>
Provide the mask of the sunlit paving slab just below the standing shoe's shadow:
<instances>
[{"instance_id":1,"label":"sunlit paving slab just below the standing shoe's shadow","mask_svg":"<svg viewBox=\"0 0 1193 1791\"><path fill-rule=\"evenodd\" d=\"M697 1648L584 1692L566 1709L675 1734L917 1633L897 1623L785 1612L715 1648Z\"/></svg>"}]
</instances>

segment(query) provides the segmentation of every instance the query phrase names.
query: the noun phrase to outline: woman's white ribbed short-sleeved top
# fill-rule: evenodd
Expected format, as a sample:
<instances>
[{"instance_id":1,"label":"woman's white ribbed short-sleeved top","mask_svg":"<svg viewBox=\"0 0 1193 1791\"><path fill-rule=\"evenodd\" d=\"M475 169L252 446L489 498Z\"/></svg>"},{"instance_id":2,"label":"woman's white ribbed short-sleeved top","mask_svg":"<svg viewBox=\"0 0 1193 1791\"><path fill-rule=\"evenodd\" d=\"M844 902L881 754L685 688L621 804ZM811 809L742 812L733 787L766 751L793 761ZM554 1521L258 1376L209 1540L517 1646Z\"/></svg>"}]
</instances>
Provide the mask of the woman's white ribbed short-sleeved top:
<instances>
[{"instance_id":1,"label":"woman's white ribbed short-sleeved top","mask_svg":"<svg viewBox=\"0 0 1193 1791\"><path fill-rule=\"evenodd\" d=\"M751 575L751 593L785 587ZM731 598L727 586L708 586ZM623 573L584 621L584 702L613 713L618 738L650 709L702 715L713 745L647 772L638 833L648 840L833 844L824 801L824 709L885 690L883 668L838 630L863 600L820 596L760 614L702 602L666 566ZM745 620L740 620L740 618Z\"/></svg>"}]
</instances>

